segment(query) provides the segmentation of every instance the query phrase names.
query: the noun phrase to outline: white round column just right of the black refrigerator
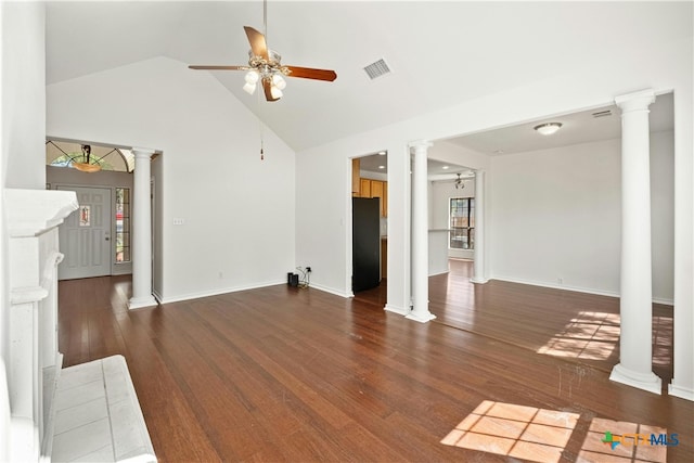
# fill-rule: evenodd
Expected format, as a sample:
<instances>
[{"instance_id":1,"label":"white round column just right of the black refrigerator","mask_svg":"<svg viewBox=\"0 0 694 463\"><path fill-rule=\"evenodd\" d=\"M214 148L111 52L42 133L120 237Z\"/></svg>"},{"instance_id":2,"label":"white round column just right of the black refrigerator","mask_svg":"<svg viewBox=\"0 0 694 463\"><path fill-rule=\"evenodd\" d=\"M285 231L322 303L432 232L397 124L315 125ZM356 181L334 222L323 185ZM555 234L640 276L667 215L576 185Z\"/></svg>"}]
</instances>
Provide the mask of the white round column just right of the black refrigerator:
<instances>
[{"instance_id":1,"label":"white round column just right of the black refrigerator","mask_svg":"<svg viewBox=\"0 0 694 463\"><path fill-rule=\"evenodd\" d=\"M421 323L436 318L429 312L428 190L426 155L432 143L410 143L414 150L412 166L412 310L406 317Z\"/></svg>"}]
</instances>

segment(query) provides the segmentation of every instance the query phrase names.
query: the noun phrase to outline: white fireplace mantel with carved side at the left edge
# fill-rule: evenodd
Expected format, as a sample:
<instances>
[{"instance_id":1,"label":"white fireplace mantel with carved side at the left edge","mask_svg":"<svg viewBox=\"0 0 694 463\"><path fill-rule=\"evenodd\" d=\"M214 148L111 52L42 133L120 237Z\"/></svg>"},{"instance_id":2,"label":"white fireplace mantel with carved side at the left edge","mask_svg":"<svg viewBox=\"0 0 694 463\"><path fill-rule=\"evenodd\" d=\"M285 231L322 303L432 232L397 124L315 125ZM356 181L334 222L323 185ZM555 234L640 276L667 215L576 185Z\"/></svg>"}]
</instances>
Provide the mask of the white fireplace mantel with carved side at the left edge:
<instances>
[{"instance_id":1,"label":"white fireplace mantel with carved side at the left edge","mask_svg":"<svg viewBox=\"0 0 694 463\"><path fill-rule=\"evenodd\" d=\"M10 275L10 351L5 361L12 461L39 461L51 454L52 403L62 366L57 350L57 265L63 255L57 226L78 207L72 191L4 190Z\"/></svg>"}]
</instances>

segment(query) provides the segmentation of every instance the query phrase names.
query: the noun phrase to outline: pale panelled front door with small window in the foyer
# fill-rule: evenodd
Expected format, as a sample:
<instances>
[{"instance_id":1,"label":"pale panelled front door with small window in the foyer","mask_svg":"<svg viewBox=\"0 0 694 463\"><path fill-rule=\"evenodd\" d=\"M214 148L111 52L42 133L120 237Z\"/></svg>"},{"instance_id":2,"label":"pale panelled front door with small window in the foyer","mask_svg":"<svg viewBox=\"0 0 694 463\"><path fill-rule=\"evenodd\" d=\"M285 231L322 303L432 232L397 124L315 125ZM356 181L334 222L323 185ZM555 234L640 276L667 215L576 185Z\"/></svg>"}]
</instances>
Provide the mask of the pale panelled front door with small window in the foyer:
<instances>
[{"instance_id":1,"label":"pale panelled front door with small window in the foyer","mask_svg":"<svg viewBox=\"0 0 694 463\"><path fill-rule=\"evenodd\" d=\"M111 189L59 187L77 193L79 208L60 226L60 248L65 255L57 278L111 274Z\"/></svg>"}]
</instances>

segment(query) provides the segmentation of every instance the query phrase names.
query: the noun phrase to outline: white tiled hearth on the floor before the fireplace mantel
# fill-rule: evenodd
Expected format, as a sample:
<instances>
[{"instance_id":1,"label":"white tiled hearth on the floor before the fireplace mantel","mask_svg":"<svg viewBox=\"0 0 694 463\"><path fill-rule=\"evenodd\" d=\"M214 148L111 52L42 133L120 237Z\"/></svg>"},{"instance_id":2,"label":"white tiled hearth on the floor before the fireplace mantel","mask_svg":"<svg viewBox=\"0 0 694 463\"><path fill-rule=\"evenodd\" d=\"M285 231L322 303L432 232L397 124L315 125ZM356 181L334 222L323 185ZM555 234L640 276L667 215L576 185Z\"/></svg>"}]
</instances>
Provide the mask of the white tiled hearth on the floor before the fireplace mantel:
<instances>
[{"instance_id":1,"label":"white tiled hearth on the floor before the fireplace mantel","mask_svg":"<svg viewBox=\"0 0 694 463\"><path fill-rule=\"evenodd\" d=\"M123 356L69 366L55 393L54 462L155 462Z\"/></svg>"}]
</instances>

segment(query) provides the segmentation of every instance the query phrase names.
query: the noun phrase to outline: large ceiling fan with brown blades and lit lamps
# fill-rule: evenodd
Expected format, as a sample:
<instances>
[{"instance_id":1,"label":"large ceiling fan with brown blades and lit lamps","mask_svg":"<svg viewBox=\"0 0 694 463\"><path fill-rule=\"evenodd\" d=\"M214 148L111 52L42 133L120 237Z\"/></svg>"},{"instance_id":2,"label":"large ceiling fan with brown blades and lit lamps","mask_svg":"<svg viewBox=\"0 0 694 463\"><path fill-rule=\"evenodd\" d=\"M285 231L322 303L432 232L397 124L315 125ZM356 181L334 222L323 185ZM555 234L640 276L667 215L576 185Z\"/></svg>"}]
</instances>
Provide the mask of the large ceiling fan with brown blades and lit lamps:
<instances>
[{"instance_id":1,"label":"large ceiling fan with brown blades and lit lamps","mask_svg":"<svg viewBox=\"0 0 694 463\"><path fill-rule=\"evenodd\" d=\"M267 34L267 0L264 2L264 23ZM246 83L243 89L253 94L258 82L262 86L267 101L278 101L282 98L286 82L284 77L300 77L304 79L333 81L337 74L330 69L314 69L312 67L285 66L281 63L282 56L270 50L265 35L250 26L244 26L246 37L250 43L248 51L248 65L246 66L188 66L191 69L207 70L247 70Z\"/></svg>"}]
</instances>

